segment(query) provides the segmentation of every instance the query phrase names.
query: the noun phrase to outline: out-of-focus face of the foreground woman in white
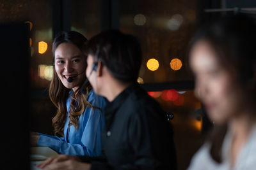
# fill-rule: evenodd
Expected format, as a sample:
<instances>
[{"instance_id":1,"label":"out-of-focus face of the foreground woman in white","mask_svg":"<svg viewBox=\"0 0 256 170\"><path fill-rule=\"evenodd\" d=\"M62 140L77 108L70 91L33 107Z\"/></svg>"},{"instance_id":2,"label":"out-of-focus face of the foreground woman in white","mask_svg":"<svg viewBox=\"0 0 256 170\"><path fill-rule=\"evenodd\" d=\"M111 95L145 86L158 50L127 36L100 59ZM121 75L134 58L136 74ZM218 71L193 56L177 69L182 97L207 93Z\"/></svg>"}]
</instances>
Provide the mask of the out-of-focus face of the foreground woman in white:
<instances>
[{"instance_id":1,"label":"out-of-focus face of the foreground woman in white","mask_svg":"<svg viewBox=\"0 0 256 170\"><path fill-rule=\"evenodd\" d=\"M223 124L239 113L242 90L207 41L198 41L193 46L189 62L195 74L195 95L204 104L209 118Z\"/></svg>"}]
</instances>

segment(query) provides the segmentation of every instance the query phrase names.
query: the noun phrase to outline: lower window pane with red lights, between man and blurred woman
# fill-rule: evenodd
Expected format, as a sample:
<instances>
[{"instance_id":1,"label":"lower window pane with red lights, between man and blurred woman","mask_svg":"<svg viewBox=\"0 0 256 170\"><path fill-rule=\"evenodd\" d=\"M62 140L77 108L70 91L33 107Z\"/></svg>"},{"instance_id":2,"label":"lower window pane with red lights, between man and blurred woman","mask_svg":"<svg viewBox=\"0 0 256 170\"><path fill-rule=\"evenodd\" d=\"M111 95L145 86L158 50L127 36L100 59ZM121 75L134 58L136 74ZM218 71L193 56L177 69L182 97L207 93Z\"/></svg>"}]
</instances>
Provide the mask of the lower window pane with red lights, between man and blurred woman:
<instances>
[{"instance_id":1,"label":"lower window pane with red lights, between man and blurred woman","mask_svg":"<svg viewBox=\"0 0 256 170\"><path fill-rule=\"evenodd\" d=\"M148 94L161 104L166 114L173 114L170 122L173 125L178 167L187 169L191 157L204 143L211 127L200 101L194 96L193 90L169 89Z\"/></svg>"}]
</instances>

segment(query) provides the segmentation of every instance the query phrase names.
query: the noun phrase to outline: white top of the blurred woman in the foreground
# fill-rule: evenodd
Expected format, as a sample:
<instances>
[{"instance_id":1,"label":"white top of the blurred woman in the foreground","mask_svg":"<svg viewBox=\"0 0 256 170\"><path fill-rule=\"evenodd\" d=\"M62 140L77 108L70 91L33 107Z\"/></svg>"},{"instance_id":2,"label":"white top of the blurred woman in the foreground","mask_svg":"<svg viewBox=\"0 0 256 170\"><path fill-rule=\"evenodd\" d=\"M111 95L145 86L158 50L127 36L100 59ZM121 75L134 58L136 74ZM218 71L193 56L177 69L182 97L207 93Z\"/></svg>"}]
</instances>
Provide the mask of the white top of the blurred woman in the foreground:
<instances>
[{"instance_id":1,"label":"white top of the blurred woman in the foreground","mask_svg":"<svg viewBox=\"0 0 256 170\"><path fill-rule=\"evenodd\" d=\"M256 169L256 126L246 144L241 148L233 168L230 167L230 146L232 134L227 132L221 150L222 162L219 164L210 155L210 143L205 143L191 160L188 170L255 170Z\"/></svg>"}]
</instances>

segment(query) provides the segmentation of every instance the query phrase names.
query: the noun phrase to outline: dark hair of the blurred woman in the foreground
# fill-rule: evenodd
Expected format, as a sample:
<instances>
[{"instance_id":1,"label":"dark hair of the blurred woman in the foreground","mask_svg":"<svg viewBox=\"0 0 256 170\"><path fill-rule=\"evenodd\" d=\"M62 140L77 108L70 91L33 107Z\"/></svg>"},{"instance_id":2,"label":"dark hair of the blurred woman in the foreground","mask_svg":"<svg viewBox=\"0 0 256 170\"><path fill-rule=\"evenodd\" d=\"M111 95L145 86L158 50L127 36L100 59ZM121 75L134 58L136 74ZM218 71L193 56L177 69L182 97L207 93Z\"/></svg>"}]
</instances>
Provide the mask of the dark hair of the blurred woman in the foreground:
<instances>
[{"instance_id":1,"label":"dark hair of the blurred woman in the foreground","mask_svg":"<svg viewBox=\"0 0 256 170\"><path fill-rule=\"evenodd\" d=\"M244 15L226 15L202 26L192 39L189 51L198 41L207 42L218 57L222 67L234 76L243 89L246 102L256 104L256 25ZM255 115L250 115L255 116ZM221 162L221 146L227 132L226 125L216 125L211 141L211 156Z\"/></svg>"}]
</instances>

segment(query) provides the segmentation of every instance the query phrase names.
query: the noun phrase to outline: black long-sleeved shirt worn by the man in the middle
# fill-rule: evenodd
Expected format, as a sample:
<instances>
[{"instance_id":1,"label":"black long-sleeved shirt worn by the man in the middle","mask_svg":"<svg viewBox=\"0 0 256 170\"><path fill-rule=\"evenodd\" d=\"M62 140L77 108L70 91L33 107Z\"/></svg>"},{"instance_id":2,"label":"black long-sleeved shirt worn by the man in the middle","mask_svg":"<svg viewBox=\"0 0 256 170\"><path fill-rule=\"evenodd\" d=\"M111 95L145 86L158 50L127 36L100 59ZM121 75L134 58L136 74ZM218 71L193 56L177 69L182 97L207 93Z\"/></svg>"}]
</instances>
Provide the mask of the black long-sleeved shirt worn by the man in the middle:
<instances>
[{"instance_id":1,"label":"black long-sleeved shirt worn by the man in the middle","mask_svg":"<svg viewBox=\"0 0 256 170\"><path fill-rule=\"evenodd\" d=\"M102 156L84 158L92 169L175 169L172 126L136 83L105 108Z\"/></svg>"}]
</instances>

